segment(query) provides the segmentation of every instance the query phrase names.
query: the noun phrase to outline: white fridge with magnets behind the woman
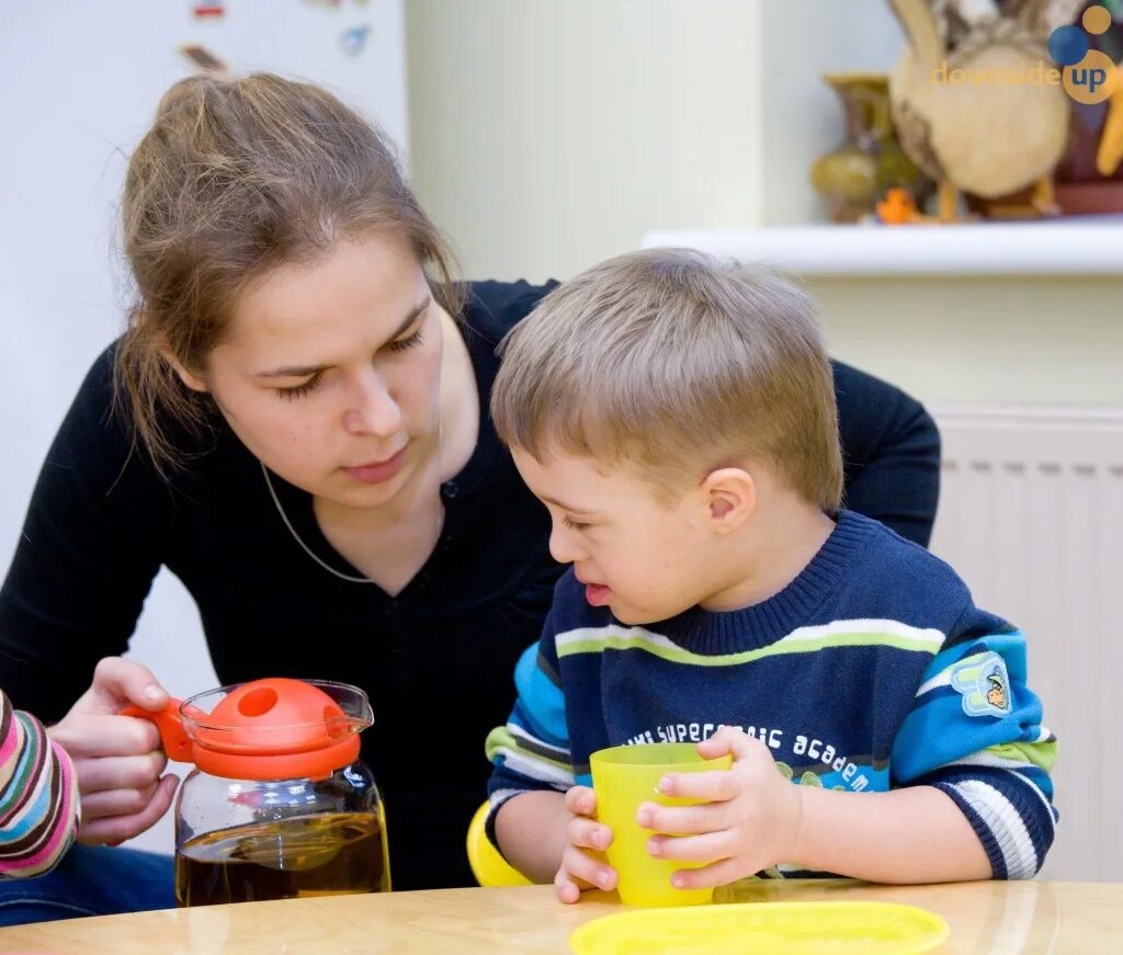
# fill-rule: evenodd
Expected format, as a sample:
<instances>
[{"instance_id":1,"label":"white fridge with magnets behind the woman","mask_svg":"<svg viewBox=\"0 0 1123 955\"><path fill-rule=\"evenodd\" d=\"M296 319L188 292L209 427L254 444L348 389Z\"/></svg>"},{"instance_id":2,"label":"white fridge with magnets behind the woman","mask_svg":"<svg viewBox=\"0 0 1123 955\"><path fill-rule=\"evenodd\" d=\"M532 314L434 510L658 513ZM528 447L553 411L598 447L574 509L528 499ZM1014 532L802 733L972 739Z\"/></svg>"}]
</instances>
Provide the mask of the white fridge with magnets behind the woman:
<instances>
[{"instance_id":1,"label":"white fridge with magnets behind the woman","mask_svg":"<svg viewBox=\"0 0 1123 955\"><path fill-rule=\"evenodd\" d=\"M407 144L402 0L368 9L274 0L228 3L195 21L190 3L8 3L0 25L0 572L7 570L44 453L128 302L117 211L127 156L156 102L203 43L231 68L328 84ZM356 57L341 33L371 24ZM133 655L167 689L216 686L193 602L162 573ZM267 669L267 661L263 660ZM264 676L264 673L263 673ZM165 821L141 845L170 851Z\"/></svg>"}]
</instances>

